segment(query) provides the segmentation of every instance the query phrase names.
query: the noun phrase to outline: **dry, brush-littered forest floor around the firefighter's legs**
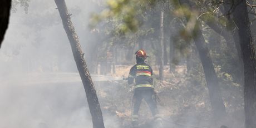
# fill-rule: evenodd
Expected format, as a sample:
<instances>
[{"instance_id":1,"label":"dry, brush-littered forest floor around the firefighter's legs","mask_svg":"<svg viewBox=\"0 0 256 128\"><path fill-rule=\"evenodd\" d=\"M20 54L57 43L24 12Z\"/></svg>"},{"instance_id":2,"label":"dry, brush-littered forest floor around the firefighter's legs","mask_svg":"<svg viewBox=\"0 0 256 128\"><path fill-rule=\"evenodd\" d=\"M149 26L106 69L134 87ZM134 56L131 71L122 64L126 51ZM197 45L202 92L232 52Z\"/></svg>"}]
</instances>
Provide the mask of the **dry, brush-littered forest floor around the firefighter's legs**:
<instances>
[{"instance_id":1,"label":"dry, brush-littered forest floor around the firefighter's legs","mask_svg":"<svg viewBox=\"0 0 256 128\"><path fill-rule=\"evenodd\" d=\"M125 77L131 66L117 66L114 77ZM158 76L157 67L152 67L155 77ZM185 66L176 66L169 72L165 67L165 81L155 80L154 86L159 100L157 107L163 124L161 127L220 127L211 118L211 109L206 86L195 85L188 78ZM102 111L108 111L119 120L118 127L132 127L132 86L127 81L108 81L96 86L101 102ZM241 107L242 108L242 107ZM243 110L231 108L228 110L230 118L223 121L229 127L243 127ZM228 108L229 109L229 108ZM239 115L239 116L237 116ZM235 117L234 117L235 116ZM234 122L235 121L235 122ZM139 127L154 126L149 107L143 101L139 111Z\"/></svg>"}]
</instances>

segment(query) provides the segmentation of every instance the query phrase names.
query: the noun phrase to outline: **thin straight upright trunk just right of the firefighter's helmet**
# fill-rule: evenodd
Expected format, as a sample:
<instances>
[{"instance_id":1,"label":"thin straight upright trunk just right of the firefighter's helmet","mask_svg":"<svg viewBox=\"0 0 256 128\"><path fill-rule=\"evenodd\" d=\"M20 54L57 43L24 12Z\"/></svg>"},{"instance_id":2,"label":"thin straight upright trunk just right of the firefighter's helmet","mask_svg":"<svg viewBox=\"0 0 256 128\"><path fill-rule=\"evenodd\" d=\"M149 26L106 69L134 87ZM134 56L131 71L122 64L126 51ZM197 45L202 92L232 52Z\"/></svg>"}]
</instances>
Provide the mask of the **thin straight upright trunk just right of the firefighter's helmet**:
<instances>
[{"instance_id":1,"label":"thin straight upright trunk just right of the firefighter's helmet","mask_svg":"<svg viewBox=\"0 0 256 128\"><path fill-rule=\"evenodd\" d=\"M160 17L160 63L159 63L159 80L164 80L164 3L161 7Z\"/></svg>"}]
</instances>

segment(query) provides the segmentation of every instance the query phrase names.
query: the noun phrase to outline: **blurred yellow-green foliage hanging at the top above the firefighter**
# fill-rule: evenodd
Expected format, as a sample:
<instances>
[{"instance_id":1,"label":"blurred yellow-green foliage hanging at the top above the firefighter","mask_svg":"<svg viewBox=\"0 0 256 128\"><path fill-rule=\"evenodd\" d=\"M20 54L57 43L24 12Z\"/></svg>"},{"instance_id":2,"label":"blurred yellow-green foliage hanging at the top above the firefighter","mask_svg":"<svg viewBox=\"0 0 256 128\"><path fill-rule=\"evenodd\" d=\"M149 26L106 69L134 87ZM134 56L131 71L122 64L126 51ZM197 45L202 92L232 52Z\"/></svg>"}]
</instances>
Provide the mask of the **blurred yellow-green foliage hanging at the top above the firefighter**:
<instances>
[{"instance_id":1,"label":"blurred yellow-green foliage hanging at the top above the firefighter","mask_svg":"<svg viewBox=\"0 0 256 128\"><path fill-rule=\"evenodd\" d=\"M107 8L100 14L94 14L92 25L108 18L115 18L116 28L121 33L135 32L141 25L142 18L145 18L146 9L155 4L154 0L150 1L128 1L128 0L108 0Z\"/></svg>"}]
</instances>

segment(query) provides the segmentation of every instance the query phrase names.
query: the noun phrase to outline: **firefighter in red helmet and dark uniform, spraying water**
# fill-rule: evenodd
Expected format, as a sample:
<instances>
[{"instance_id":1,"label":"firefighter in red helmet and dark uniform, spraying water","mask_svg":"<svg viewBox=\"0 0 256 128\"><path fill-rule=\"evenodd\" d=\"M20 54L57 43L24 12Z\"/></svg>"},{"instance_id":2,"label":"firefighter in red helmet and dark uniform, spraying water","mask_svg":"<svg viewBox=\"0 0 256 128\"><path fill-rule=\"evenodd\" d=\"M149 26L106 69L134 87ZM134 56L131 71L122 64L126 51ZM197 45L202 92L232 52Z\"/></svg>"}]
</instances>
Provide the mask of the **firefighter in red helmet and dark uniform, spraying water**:
<instances>
[{"instance_id":1,"label":"firefighter in red helmet and dark uniform, spraying water","mask_svg":"<svg viewBox=\"0 0 256 128\"><path fill-rule=\"evenodd\" d=\"M146 52L144 50L139 50L135 52L135 55L136 65L132 66L130 69L128 84L131 85L134 83L135 79L132 122L137 124L139 117L138 112L142 99L144 99L150 107L154 119L159 118L159 115L156 107L156 99L154 98L155 92L152 78L153 71L152 68L145 63L145 59L147 58Z\"/></svg>"}]
</instances>

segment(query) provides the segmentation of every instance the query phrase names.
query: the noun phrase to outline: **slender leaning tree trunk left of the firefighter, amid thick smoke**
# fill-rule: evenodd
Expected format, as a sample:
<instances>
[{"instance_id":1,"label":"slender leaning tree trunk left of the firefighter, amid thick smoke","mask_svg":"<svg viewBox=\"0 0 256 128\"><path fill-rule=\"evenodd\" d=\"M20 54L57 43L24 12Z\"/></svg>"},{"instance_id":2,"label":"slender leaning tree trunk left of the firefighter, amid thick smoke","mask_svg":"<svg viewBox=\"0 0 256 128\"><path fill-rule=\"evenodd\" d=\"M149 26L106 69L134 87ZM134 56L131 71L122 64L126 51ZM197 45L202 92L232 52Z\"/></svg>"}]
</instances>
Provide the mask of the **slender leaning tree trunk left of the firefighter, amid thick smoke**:
<instances>
[{"instance_id":1,"label":"slender leaning tree trunk left of the firefighter, amid thick smoke","mask_svg":"<svg viewBox=\"0 0 256 128\"><path fill-rule=\"evenodd\" d=\"M97 94L93 86L90 73L88 72L85 58L83 58L83 52L81 50L80 42L75 32L75 28L71 22L70 14L67 12L66 3L64 0L55 0L55 3L58 7L58 11L60 12L63 27L67 33L68 40L70 41L76 66L79 71L83 87L85 88L88 106L92 116L93 128L104 128L102 112Z\"/></svg>"}]
</instances>

